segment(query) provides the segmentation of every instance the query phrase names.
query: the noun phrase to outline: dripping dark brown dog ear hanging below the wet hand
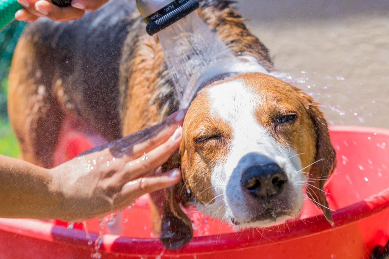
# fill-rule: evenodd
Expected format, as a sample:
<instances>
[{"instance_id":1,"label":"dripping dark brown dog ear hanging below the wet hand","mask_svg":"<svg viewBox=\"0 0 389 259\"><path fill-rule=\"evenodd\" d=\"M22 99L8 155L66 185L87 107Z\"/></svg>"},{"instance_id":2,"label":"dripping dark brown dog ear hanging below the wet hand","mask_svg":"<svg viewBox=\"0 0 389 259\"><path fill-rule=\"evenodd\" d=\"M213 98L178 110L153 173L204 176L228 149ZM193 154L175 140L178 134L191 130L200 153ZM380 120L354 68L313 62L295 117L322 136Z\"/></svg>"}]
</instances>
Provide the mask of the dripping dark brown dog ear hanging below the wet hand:
<instances>
[{"instance_id":1,"label":"dripping dark brown dog ear hanging below the wet hand","mask_svg":"<svg viewBox=\"0 0 389 259\"><path fill-rule=\"evenodd\" d=\"M167 171L179 167L179 161L179 153L176 153L163 166L163 170ZM185 205L187 197L186 192L183 193L183 190L186 189L182 181L173 187L165 189L160 240L169 250L180 249L193 237L192 222L181 210L177 202L177 198L179 198L180 202Z\"/></svg>"}]
</instances>

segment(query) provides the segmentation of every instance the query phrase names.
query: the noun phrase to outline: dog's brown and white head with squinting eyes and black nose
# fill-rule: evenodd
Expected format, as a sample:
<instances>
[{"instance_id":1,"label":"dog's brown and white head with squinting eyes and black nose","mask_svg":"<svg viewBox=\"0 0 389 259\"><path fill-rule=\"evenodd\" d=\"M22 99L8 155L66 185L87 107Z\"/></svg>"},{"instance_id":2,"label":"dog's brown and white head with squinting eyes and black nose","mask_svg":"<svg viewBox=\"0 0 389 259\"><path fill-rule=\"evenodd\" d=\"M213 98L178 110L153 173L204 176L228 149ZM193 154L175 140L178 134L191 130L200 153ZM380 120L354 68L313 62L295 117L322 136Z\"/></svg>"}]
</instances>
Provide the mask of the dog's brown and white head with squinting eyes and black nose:
<instances>
[{"instance_id":1,"label":"dog's brown and white head with squinting eyes and black nose","mask_svg":"<svg viewBox=\"0 0 389 259\"><path fill-rule=\"evenodd\" d=\"M298 216L307 187L331 220L321 191L335 167L326 120L309 96L277 78L249 73L200 90L180 155L184 183L211 217L237 228L278 224Z\"/></svg>"}]
</instances>

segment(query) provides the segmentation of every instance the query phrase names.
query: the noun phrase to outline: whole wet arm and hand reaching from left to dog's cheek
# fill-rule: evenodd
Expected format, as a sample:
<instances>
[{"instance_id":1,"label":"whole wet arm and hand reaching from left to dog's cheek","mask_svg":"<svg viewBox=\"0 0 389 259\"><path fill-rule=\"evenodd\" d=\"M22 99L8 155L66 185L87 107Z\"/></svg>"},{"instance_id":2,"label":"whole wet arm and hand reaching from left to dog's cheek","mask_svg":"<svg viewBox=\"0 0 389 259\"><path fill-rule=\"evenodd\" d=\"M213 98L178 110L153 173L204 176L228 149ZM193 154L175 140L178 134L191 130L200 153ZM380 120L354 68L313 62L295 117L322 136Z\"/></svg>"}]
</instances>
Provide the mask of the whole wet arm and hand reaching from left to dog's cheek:
<instances>
[{"instance_id":1,"label":"whole wet arm and hand reaching from left to dog's cheek","mask_svg":"<svg viewBox=\"0 0 389 259\"><path fill-rule=\"evenodd\" d=\"M79 221L121 210L145 193L177 183L179 170L161 174L160 168L177 151L184 115L174 113L53 169L0 156L0 217Z\"/></svg>"}]
</instances>

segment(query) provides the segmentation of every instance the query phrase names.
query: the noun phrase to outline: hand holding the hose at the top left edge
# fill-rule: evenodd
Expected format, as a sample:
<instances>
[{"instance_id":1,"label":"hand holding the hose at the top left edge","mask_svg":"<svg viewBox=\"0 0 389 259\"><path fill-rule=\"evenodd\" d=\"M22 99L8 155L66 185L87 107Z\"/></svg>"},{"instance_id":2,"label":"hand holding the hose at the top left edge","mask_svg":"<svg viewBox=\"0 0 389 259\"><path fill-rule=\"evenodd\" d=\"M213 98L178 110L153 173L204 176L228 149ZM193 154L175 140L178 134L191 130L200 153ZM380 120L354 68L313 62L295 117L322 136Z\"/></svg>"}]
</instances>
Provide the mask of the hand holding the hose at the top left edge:
<instances>
[{"instance_id":1,"label":"hand holding the hose at the top left edge","mask_svg":"<svg viewBox=\"0 0 389 259\"><path fill-rule=\"evenodd\" d=\"M18 0L25 7L16 12L19 21L33 22L39 17L48 17L53 21L80 19L85 11L93 12L108 0L73 0L69 7L58 7L48 0Z\"/></svg>"}]
</instances>

